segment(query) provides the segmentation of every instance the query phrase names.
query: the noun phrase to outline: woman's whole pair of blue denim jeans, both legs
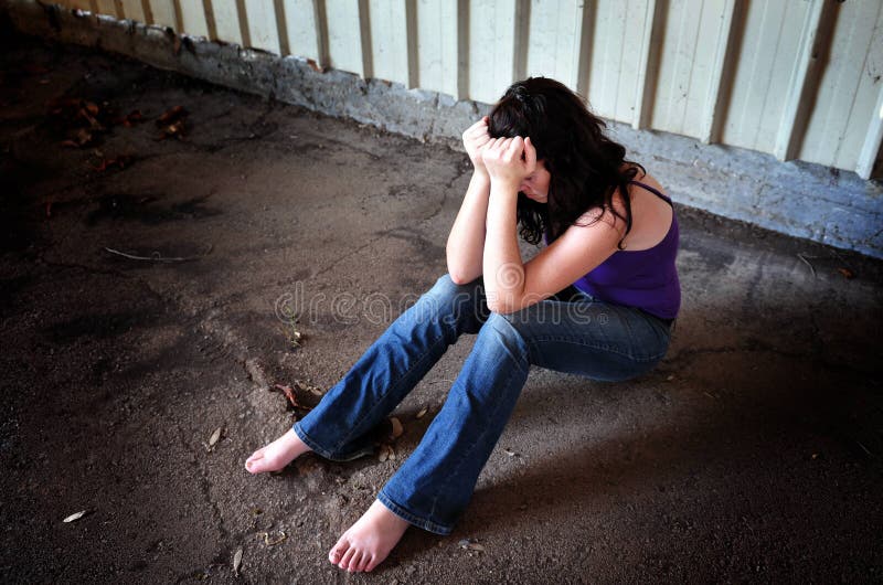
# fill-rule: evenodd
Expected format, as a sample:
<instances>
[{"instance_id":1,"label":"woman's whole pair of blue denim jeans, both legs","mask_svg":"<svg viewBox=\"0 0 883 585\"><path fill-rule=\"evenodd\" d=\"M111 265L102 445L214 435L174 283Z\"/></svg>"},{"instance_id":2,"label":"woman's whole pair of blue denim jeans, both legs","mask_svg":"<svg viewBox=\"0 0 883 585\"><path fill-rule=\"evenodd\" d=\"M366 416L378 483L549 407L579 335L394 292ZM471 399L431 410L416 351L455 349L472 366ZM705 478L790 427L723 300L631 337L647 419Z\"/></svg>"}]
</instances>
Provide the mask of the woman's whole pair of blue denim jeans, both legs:
<instances>
[{"instance_id":1,"label":"woman's whole pair of blue denim jeans, both legs","mask_svg":"<svg viewBox=\"0 0 883 585\"><path fill-rule=\"evenodd\" d=\"M640 309L578 292L501 315L487 309L481 278L440 277L365 351L295 433L315 453L351 460L372 453L372 430L462 333L475 347L421 444L377 494L412 524L449 534L472 496L532 364L618 381L651 370L669 323Z\"/></svg>"}]
</instances>

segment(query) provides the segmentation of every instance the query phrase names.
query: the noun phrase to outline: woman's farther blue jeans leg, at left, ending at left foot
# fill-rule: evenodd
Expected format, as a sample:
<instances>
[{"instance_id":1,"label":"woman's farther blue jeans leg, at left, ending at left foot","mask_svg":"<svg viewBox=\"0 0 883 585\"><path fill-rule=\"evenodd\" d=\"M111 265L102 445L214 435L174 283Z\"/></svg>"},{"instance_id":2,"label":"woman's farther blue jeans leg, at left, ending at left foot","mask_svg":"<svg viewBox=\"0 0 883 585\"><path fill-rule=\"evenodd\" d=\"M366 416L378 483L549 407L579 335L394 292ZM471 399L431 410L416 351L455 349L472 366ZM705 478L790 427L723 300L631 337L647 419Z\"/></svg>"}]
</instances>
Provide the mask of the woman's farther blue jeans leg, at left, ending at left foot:
<instances>
[{"instance_id":1,"label":"woman's farther blue jeans leg, at left, ending at left foot","mask_svg":"<svg viewBox=\"0 0 883 585\"><path fill-rule=\"evenodd\" d=\"M380 424L462 333L489 315L481 279L455 284L444 275L362 354L321 402L294 425L315 453L350 460L373 450Z\"/></svg>"}]
</instances>

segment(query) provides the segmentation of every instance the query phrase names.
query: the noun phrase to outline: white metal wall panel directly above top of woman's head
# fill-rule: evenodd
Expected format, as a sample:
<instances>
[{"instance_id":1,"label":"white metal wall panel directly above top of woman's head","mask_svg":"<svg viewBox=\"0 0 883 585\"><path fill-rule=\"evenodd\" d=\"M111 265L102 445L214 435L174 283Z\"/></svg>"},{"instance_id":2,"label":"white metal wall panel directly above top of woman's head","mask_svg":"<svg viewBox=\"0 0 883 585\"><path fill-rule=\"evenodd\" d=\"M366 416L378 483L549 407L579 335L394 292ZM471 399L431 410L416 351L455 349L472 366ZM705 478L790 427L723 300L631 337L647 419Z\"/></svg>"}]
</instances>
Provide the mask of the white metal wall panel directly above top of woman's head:
<instances>
[{"instance_id":1,"label":"white metal wall panel directly above top of woman's head","mask_svg":"<svg viewBox=\"0 0 883 585\"><path fill-rule=\"evenodd\" d=\"M584 4L571 0L532 0L528 76L552 77L576 89Z\"/></svg>"}]
</instances>

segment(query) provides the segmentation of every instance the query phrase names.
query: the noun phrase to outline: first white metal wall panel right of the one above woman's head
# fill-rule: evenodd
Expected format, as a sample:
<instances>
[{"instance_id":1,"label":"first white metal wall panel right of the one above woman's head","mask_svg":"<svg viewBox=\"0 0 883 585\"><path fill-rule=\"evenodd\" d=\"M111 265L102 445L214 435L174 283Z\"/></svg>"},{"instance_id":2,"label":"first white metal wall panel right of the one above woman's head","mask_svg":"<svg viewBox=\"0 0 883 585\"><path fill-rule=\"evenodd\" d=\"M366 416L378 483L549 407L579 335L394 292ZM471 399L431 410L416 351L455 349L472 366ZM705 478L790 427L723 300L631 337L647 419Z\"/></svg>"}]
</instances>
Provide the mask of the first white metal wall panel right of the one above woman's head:
<instances>
[{"instance_id":1,"label":"first white metal wall panel right of the one above woman's head","mask_svg":"<svg viewBox=\"0 0 883 585\"><path fill-rule=\"evenodd\" d=\"M625 123L635 119L643 36L651 18L648 0L598 0L591 39L588 103L595 114Z\"/></svg>"}]
</instances>

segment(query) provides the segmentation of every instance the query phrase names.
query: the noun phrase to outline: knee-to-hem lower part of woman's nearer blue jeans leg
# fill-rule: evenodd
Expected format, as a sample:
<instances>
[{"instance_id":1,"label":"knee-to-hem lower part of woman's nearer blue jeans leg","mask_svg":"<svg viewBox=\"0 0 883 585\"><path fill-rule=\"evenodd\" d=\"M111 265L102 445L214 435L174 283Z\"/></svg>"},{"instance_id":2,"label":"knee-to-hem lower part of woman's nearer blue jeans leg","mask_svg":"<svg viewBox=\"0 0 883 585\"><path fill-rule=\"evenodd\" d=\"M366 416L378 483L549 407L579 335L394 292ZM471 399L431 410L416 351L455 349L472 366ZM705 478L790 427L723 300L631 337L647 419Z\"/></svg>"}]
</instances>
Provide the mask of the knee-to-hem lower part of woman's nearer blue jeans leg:
<instances>
[{"instance_id":1,"label":"knee-to-hem lower part of woman's nearer blue jeans leg","mask_svg":"<svg viewBox=\"0 0 883 585\"><path fill-rule=\"evenodd\" d=\"M449 534L528 379L528 347L491 313L419 446L377 499L412 524Z\"/></svg>"}]
</instances>

